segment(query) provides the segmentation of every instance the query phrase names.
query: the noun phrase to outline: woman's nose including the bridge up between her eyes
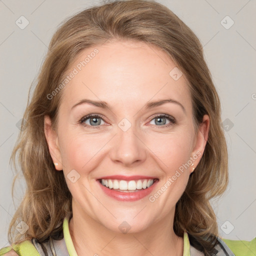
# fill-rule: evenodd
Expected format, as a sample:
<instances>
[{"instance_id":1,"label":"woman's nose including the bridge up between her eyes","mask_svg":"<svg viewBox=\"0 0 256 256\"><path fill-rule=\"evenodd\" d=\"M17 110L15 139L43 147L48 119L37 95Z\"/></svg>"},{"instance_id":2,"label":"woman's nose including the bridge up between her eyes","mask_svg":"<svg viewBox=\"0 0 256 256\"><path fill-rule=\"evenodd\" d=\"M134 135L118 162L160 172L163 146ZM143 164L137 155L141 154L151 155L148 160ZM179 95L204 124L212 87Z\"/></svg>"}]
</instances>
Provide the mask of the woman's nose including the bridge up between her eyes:
<instances>
[{"instance_id":1,"label":"woman's nose including the bridge up between her eyes","mask_svg":"<svg viewBox=\"0 0 256 256\"><path fill-rule=\"evenodd\" d=\"M113 161L130 165L133 162L143 161L146 156L145 146L139 138L139 129L127 118L123 118L117 127L117 134L111 151Z\"/></svg>"}]
</instances>

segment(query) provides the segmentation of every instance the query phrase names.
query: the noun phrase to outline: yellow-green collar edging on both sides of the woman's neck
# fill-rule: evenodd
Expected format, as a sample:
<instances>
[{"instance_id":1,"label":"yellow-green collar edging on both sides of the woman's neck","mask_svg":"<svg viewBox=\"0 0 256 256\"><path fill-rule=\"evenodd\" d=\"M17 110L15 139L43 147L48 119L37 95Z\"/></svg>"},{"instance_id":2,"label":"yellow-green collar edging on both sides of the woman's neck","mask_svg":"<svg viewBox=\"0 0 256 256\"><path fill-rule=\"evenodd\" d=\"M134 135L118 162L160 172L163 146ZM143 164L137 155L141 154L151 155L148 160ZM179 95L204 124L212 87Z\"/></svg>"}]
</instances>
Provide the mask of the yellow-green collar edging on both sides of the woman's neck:
<instances>
[{"instance_id":1,"label":"yellow-green collar edging on both sides of the woman's neck","mask_svg":"<svg viewBox=\"0 0 256 256\"><path fill-rule=\"evenodd\" d=\"M75 251L72 239L71 239L71 235L69 232L69 227L68 227L68 219L67 217L64 218L63 221L63 234L64 234L64 239L65 239L65 243L66 243L66 248L67 251L69 253L69 256L78 256L77 252ZM190 245L189 245L189 239L187 236L187 233L184 232L184 236L183 236L183 256L190 256Z\"/></svg>"}]
</instances>

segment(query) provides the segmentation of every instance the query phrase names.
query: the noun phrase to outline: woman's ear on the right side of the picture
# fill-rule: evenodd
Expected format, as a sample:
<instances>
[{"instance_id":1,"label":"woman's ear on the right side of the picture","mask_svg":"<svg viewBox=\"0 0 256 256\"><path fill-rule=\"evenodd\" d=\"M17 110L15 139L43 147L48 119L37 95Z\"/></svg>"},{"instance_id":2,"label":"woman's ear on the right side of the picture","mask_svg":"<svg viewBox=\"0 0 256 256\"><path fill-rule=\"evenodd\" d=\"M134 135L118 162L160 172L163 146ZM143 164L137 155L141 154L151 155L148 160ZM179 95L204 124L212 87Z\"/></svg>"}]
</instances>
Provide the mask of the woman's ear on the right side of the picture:
<instances>
[{"instance_id":1,"label":"woman's ear on the right side of the picture","mask_svg":"<svg viewBox=\"0 0 256 256\"><path fill-rule=\"evenodd\" d=\"M194 139L194 144L193 144L193 149L192 149L192 157L193 156L197 156L196 159L193 161L193 168L195 168L197 166L197 164L199 163L207 139L208 139L208 132L209 132L209 125L210 125L210 119L209 116L207 114L203 115L202 118L202 122L199 124L198 130L197 130L197 134L195 136ZM195 157L193 157L195 158ZM193 169L190 169L190 173L193 171Z\"/></svg>"}]
</instances>

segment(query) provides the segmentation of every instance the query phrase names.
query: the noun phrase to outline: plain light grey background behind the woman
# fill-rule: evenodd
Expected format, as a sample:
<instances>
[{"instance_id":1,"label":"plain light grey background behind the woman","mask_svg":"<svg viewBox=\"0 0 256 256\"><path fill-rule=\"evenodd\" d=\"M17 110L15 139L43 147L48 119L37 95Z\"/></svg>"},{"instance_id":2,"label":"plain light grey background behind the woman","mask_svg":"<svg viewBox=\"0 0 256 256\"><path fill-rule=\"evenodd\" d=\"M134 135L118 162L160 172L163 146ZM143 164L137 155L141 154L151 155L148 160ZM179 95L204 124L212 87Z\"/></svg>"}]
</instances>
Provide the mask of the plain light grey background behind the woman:
<instances>
[{"instance_id":1,"label":"plain light grey background behind the woman","mask_svg":"<svg viewBox=\"0 0 256 256\"><path fill-rule=\"evenodd\" d=\"M223 197L211 201L220 235L251 240L256 236L256 2L158 2L169 7L199 37L220 95L230 174ZM28 88L56 26L93 3L99 1L0 0L0 248L8 244L7 227L14 213L9 157L19 132L16 123L23 116ZM21 23L21 15L29 21L24 29L15 23ZM227 15L231 19L225 18ZM226 29L224 26L230 26L232 20L234 24ZM14 193L16 205L24 189L20 179Z\"/></svg>"}]
</instances>

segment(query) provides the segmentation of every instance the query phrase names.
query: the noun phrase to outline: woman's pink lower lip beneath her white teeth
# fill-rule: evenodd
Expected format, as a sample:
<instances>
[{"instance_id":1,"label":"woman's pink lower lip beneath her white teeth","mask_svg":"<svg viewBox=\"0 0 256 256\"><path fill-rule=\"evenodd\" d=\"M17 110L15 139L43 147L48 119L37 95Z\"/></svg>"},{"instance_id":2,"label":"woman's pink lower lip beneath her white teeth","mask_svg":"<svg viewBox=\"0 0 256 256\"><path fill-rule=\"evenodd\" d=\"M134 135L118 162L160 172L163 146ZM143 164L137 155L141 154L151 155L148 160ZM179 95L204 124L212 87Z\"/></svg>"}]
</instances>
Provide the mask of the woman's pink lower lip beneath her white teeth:
<instances>
[{"instance_id":1,"label":"woman's pink lower lip beneath her white teeth","mask_svg":"<svg viewBox=\"0 0 256 256\"><path fill-rule=\"evenodd\" d=\"M136 200L139 200L139 199L147 196L148 194L150 194L152 192L152 190L154 189L156 183L158 182L158 179L155 182L153 182L153 184L151 186L149 186L148 188L145 188L145 189L142 188L137 192L119 192L119 191L109 189L109 188L103 186L99 180L97 180L97 182L99 183L99 186L101 187L103 192L105 192L108 196L111 196L116 200L136 201Z\"/></svg>"}]
</instances>

